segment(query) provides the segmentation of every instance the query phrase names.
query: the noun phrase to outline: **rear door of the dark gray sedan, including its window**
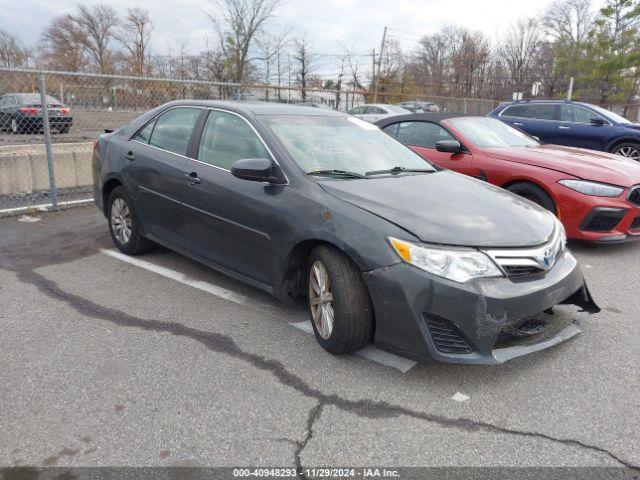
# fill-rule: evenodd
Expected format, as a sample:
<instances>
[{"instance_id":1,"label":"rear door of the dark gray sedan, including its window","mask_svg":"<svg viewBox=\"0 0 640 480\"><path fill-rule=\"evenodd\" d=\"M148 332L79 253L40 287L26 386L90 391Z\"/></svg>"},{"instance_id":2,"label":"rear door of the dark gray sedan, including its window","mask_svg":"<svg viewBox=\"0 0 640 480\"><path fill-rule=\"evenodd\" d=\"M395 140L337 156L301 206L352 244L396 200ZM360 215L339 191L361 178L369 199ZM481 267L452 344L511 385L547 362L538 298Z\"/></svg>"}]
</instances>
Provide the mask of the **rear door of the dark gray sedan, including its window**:
<instances>
[{"instance_id":1,"label":"rear door of the dark gray sedan, including its window","mask_svg":"<svg viewBox=\"0 0 640 480\"><path fill-rule=\"evenodd\" d=\"M142 128L122 149L125 179L147 233L184 247L182 189L187 149L199 115L196 107L174 107Z\"/></svg>"}]
</instances>

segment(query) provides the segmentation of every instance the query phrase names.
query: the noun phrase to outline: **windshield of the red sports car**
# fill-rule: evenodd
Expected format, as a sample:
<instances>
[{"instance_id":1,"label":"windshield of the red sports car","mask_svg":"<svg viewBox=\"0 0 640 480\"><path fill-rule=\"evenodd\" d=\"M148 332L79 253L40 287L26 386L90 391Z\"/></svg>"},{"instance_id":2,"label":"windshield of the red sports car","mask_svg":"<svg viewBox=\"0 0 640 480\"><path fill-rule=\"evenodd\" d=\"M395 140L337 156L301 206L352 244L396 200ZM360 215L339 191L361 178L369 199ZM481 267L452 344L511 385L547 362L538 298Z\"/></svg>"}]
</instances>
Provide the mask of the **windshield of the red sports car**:
<instances>
[{"instance_id":1,"label":"windshield of the red sports car","mask_svg":"<svg viewBox=\"0 0 640 480\"><path fill-rule=\"evenodd\" d=\"M537 147L540 142L495 118L460 117L447 120L480 148Z\"/></svg>"}]
</instances>

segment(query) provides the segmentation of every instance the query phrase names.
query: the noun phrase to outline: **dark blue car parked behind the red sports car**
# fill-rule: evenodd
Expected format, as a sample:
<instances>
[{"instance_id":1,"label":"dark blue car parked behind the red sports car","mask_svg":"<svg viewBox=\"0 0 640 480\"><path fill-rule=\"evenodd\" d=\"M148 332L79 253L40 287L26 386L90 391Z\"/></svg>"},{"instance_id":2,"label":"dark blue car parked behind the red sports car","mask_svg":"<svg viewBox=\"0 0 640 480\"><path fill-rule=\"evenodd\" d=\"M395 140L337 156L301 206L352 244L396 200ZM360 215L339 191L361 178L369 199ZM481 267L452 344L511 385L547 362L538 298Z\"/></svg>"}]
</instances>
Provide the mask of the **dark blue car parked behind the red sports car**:
<instances>
[{"instance_id":1,"label":"dark blue car parked behind the red sports car","mask_svg":"<svg viewBox=\"0 0 640 480\"><path fill-rule=\"evenodd\" d=\"M545 143L600 150L640 161L640 125L597 105L524 100L502 104L489 115Z\"/></svg>"}]
</instances>

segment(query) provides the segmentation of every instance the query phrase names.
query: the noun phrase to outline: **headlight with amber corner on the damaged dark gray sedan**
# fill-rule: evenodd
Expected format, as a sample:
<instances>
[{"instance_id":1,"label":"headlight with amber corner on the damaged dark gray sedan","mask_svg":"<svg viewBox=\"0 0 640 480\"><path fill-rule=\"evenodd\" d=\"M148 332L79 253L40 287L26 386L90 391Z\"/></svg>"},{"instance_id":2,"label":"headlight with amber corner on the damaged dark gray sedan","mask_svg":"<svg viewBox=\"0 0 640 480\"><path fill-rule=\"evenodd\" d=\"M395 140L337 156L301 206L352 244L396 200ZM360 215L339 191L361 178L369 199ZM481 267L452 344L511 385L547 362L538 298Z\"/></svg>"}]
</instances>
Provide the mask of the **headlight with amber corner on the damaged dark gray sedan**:
<instances>
[{"instance_id":1,"label":"headlight with amber corner on the damaged dark gray sedan","mask_svg":"<svg viewBox=\"0 0 640 480\"><path fill-rule=\"evenodd\" d=\"M425 247L397 238L389 241L405 262L456 282L503 276L493 260L477 250Z\"/></svg>"}]
</instances>

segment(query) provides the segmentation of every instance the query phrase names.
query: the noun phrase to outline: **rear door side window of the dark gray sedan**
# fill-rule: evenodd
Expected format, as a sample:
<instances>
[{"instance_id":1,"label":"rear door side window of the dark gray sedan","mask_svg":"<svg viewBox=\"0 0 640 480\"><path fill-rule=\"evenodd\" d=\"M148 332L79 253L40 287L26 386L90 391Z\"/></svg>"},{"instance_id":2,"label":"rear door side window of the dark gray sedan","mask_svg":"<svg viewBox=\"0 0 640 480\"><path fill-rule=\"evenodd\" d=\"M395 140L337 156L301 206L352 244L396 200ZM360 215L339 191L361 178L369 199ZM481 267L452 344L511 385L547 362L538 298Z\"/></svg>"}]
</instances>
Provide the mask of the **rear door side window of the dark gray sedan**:
<instances>
[{"instance_id":1,"label":"rear door side window of the dark gray sedan","mask_svg":"<svg viewBox=\"0 0 640 480\"><path fill-rule=\"evenodd\" d=\"M172 108L168 110L158 117L149 145L179 155L186 155L189 138L199 115L200 109L198 108Z\"/></svg>"}]
</instances>

